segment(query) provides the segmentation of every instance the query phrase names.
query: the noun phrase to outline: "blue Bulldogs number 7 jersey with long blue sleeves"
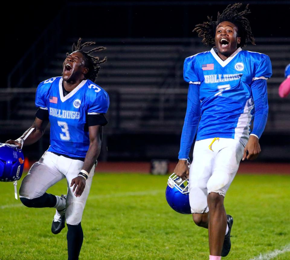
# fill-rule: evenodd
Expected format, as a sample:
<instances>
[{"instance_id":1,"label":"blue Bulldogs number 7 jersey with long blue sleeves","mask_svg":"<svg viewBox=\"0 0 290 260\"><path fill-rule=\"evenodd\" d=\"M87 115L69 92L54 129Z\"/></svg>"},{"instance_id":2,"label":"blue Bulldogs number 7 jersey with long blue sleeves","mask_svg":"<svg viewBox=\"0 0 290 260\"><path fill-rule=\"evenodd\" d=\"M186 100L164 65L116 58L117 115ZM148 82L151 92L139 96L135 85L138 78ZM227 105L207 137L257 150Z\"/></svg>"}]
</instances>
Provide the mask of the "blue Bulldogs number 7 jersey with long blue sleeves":
<instances>
[{"instance_id":1,"label":"blue Bulldogs number 7 jersey with long blue sleeves","mask_svg":"<svg viewBox=\"0 0 290 260\"><path fill-rule=\"evenodd\" d=\"M223 61L215 49L211 49L186 58L183 75L190 84L188 105L194 109L187 108L179 159L187 158L197 124L196 140L222 137L236 139L246 145L250 122L255 114L254 100L256 110L263 111L261 125L266 124L266 79L272 75L267 55L238 48ZM188 120L194 120L194 123ZM254 124L257 130L253 130L253 134L258 138L265 127L261 125Z\"/></svg>"}]
</instances>

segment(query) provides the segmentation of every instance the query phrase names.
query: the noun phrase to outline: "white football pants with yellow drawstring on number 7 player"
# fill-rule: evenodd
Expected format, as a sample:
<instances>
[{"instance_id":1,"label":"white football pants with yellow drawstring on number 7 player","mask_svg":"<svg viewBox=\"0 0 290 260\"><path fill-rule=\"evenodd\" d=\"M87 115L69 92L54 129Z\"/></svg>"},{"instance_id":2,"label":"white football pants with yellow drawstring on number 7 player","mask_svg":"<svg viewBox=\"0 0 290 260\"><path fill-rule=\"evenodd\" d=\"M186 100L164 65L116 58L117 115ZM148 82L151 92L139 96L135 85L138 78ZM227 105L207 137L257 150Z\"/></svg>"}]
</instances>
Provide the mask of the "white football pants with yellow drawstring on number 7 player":
<instances>
[{"instance_id":1,"label":"white football pants with yellow drawstring on number 7 player","mask_svg":"<svg viewBox=\"0 0 290 260\"><path fill-rule=\"evenodd\" d=\"M225 196L243 157L244 146L238 140L213 140L196 141L194 145L188 181L192 213L208 212L207 197L211 192Z\"/></svg>"}]
</instances>

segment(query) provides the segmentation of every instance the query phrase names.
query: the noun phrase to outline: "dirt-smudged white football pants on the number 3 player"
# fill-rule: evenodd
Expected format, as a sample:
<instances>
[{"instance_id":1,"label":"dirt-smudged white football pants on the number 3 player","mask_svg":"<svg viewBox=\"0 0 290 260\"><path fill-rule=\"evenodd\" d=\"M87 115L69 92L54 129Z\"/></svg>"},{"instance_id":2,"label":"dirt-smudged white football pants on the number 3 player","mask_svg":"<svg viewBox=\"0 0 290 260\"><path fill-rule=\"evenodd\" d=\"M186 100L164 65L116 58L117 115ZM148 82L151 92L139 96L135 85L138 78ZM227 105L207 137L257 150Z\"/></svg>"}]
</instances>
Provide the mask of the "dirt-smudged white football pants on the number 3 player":
<instances>
[{"instance_id":1,"label":"dirt-smudged white football pants on the number 3 player","mask_svg":"<svg viewBox=\"0 0 290 260\"><path fill-rule=\"evenodd\" d=\"M73 178L76 178L82 169L84 162L58 156L52 152L45 152L38 162L34 163L28 174L24 177L19 189L19 197L34 199L42 196L48 188L63 178L67 181L66 197L66 223L78 225L82 220L82 213L85 208L92 178L95 172L95 165L89 172L89 178L85 181L85 189L80 197L76 197L69 187Z\"/></svg>"}]
</instances>

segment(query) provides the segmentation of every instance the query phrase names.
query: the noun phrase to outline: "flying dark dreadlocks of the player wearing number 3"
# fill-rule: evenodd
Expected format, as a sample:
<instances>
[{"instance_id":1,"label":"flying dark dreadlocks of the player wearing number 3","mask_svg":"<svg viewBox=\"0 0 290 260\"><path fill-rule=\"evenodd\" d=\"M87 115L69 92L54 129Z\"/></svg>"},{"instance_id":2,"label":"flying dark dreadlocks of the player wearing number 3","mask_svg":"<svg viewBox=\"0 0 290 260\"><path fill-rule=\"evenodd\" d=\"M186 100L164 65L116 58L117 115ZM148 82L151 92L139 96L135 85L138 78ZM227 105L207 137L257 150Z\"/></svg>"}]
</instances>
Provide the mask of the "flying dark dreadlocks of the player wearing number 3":
<instances>
[{"instance_id":1,"label":"flying dark dreadlocks of the player wearing number 3","mask_svg":"<svg viewBox=\"0 0 290 260\"><path fill-rule=\"evenodd\" d=\"M101 63L105 63L107 61L107 57L100 60L98 56L92 56L90 53L93 53L95 51L101 51L106 50L105 47L96 47L89 51L83 51L82 49L87 46L91 46L93 44L96 44L96 42L85 42L81 43L82 38L79 38L78 42L75 44L72 44L72 52L78 51L82 53L84 56L85 66L89 69L89 72L85 74L85 78L91 80L92 82L95 82L96 77L98 77L98 72L101 69L99 66ZM68 56L69 53L66 53L66 56Z\"/></svg>"}]
</instances>

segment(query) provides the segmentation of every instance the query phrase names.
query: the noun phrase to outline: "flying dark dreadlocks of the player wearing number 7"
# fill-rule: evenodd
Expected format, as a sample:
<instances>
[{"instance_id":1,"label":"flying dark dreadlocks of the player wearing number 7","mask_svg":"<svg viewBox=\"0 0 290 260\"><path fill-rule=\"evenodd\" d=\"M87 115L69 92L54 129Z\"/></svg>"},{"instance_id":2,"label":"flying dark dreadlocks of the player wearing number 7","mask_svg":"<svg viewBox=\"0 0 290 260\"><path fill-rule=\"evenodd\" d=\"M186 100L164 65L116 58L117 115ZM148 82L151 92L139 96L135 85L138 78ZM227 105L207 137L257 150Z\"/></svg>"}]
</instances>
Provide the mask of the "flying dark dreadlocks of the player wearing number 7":
<instances>
[{"instance_id":1,"label":"flying dark dreadlocks of the player wearing number 7","mask_svg":"<svg viewBox=\"0 0 290 260\"><path fill-rule=\"evenodd\" d=\"M218 12L217 21L212 21L212 17L208 16L208 22L195 25L193 32L196 31L198 33L198 37L202 38L201 42L206 46L211 44L214 45L214 36L218 24L224 21L228 21L236 25L238 28L237 36L241 37L241 42L237 44L238 48L245 47L248 41L255 45L255 39L252 34L250 22L246 18L246 16L251 13L248 9L249 4L246 6L244 11L239 12L238 9L240 9L241 6L241 3L228 5L222 14Z\"/></svg>"}]
</instances>

